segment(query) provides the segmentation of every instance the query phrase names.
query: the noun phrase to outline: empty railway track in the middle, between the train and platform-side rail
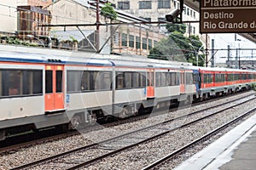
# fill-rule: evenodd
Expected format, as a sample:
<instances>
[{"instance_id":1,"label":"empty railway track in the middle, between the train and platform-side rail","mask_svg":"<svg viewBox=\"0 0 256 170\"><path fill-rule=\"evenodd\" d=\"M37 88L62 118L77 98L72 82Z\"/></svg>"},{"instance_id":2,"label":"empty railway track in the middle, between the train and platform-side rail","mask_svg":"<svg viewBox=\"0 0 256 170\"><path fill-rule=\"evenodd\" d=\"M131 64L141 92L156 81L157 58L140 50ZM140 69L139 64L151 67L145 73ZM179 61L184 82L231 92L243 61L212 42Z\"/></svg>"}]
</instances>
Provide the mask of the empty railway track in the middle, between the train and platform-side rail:
<instances>
[{"instance_id":1,"label":"empty railway track in the middle, between the train and platform-side rail","mask_svg":"<svg viewBox=\"0 0 256 170\"><path fill-rule=\"evenodd\" d=\"M167 120L166 122L157 123L152 126L138 129L131 133L119 135L112 139L86 145L75 150L69 150L59 155L50 156L42 160L33 161L20 167L15 167L14 169L36 167L43 167L46 169L53 167L77 169L79 167L86 167L109 156L114 156L125 150L129 150L138 144L145 144L151 140L158 139L167 133L177 131L183 127L189 127L192 124L201 122L202 120L215 116L223 111L230 110L237 105L245 104L252 99L255 98L251 96L241 103L237 101L238 103L234 105L230 105L230 102L228 102L229 104L225 104L227 106L224 109L219 109L218 111L210 111L212 108L204 109L202 111L195 111L185 116L179 116L175 119ZM232 103L235 103L235 101L232 101ZM224 104L221 105L223 106ZM215 107L216 106L214 106L214 108Z\"/></svg>"}]
</instances>

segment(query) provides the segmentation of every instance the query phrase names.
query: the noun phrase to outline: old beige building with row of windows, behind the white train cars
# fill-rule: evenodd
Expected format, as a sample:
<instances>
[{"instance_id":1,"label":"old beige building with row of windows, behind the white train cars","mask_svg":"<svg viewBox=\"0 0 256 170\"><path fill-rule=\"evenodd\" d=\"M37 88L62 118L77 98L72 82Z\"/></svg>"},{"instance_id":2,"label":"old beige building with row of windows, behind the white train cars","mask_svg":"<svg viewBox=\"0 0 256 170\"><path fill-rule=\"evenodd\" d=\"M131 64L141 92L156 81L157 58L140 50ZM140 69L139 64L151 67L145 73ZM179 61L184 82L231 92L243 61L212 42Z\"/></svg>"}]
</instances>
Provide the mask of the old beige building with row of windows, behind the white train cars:
<instances>
[{"instance_id":1,"label":"old beige building with row of windows, behind the white train cars","mask_svg":"<svg viewBox=\"0 0 256 170\"><path fill-rule=\"evenodd\" d=\"M102 7L104 4L100 4ZM60 0L50 4L47 10L52 14L51 25L67 25L59 27L51 27L51 37L60 37L60 31L82 31L84 32L84 40L79 42L79 49L87 48L90 43L96 46L96 5L89 4L88 1L82 0ZM149 25L125 25L128 22L146 21L133 14L125 13L122 10L116 10L118 14L117 20L114 22L120 25L100 26L100 48L104 47L104 53L120 53L120 54L140 54L148 55L154 44L165 37L160 33L159 28L153 28ZM110 23L110 20L100 17L101 23ZM76 26L68 25L87 25ZM65 30L65 31L64 31ZM86 34L94 31L94 36ZM58 32L58 35L56 34ZM64 36L64 35L62 35ZM90 38L87 38L90 37ZM90 42L88 42L90 39ZM85 44L85 45L84 45Z\"/></svg>"}]
</instances>

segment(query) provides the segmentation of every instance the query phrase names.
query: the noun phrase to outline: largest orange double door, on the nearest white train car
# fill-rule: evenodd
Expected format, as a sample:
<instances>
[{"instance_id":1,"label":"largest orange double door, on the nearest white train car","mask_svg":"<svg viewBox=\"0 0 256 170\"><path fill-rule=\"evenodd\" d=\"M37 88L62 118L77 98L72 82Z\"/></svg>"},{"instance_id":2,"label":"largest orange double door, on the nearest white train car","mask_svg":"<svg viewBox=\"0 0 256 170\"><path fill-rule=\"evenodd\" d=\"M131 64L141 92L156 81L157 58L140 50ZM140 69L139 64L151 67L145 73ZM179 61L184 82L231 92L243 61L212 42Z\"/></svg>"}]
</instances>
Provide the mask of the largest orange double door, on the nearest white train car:
<instances>
[{"instance_id":1,"label":"largest orange double door, on the nearest white train car","mask_svg":"<svg viewBox=\"0 0 256 170\"><path fill-rule=\"evenodd\" d=\"M45 112L64 110L63 65L45 65Z\"/></svg>"}]
</instances>

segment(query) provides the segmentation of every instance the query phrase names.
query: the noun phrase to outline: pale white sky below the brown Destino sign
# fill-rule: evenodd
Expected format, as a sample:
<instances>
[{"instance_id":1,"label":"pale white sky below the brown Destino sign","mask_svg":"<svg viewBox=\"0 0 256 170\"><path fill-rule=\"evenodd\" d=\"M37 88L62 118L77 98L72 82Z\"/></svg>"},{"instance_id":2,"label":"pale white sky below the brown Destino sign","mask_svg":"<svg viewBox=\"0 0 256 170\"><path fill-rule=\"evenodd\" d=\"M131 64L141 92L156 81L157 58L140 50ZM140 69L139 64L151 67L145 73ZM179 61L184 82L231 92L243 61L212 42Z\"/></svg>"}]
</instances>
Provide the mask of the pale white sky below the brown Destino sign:
<instances>
[{"instance_id":1,"label":"pale white sky below the brown Destino sign","mask_svg":"<svg viewBox=\"0 0 256 170\"><path fill-rule=\"evenodd\" d=\"M253 50L253 56L254 59L256 60L256 43L251 42L247 40L244 37L239 36L236 34L236 40L235 41L235 34L210 34L210 41L212 42L212 39L214 39L214 48L215 49L227 49L228 45L230 45L230 48L236 49L236 48L241 48L240 50L240 57L241 59L249 60L252 59L252 50L242 50L245 48L254 48ZM212 48L212 44L211 47ZM238 53L239 54L239 53ZM217 53L215 54L215 62L216 63L224 63L225 60L227 59L228 52L227 50L218 50ZM235 60L236 59L236 50L230 50L230 55L231 59ZM247 58L244 58L246 57ZM249 57L249 58L248 58Z\"/></svg>"}]
</instances>

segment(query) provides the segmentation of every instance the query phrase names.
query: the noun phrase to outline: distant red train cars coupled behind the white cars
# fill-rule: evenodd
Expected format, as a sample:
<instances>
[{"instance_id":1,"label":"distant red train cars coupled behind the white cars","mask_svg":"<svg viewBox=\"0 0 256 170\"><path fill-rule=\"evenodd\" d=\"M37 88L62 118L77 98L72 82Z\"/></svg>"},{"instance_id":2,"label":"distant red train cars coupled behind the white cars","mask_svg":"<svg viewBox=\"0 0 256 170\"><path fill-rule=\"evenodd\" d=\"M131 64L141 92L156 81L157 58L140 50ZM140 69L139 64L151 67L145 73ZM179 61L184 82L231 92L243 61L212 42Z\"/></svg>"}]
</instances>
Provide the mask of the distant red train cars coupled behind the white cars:
<instances>
[{"instance_id":1,"label":"distant red train cars coupled behind the white cars","mask_svg":"<svg viewBox=\"0 0 256 170\"><path fill-rule=\"evenodd\" d=\"M254 83L255 71L203 67L199 68L199 71L201 75L201 99L246 90L251 88Z\"/></svg>"}]
</instances>

